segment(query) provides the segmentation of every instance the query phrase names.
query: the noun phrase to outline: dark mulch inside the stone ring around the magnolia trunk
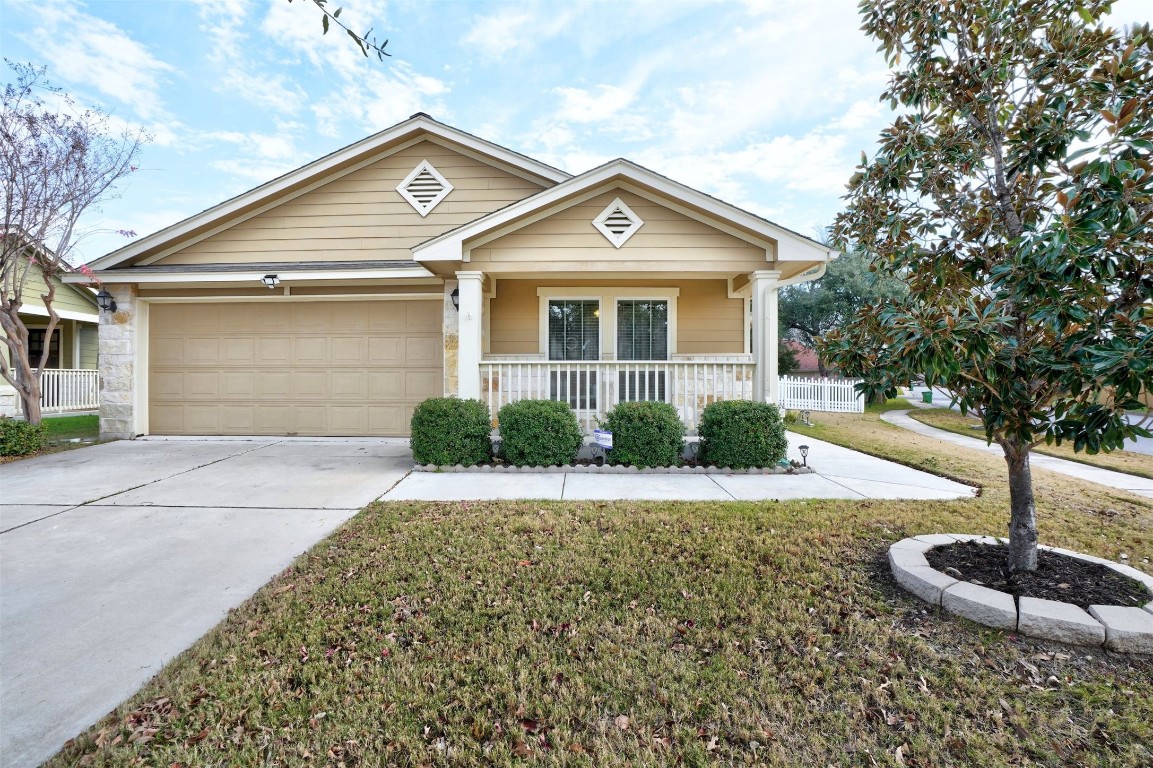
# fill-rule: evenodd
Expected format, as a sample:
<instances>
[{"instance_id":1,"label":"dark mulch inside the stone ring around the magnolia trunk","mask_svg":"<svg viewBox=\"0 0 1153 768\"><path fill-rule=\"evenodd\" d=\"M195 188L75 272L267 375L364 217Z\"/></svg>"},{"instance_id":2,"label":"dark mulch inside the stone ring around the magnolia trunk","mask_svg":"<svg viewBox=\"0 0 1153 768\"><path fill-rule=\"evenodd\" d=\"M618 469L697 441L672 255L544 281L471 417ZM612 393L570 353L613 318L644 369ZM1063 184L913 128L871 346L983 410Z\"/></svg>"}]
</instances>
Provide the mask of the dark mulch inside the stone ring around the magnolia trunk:
<instances>
[{"instance_id":1,"label":"dark mulch inside the stone ring around the magnolia trunk","mask_svg":"<svg viewBox=\"0 0 1153 768\"><path fill-rule=\"evenodd\" d=\"M1144 605L1153 600L1145 585L1098 563L1041 550L1037 571L1009 572L1009 548L977 542L935 547L925 552L935 570L960 581L1007 592L1015 597L1040 597L1090 605Z\"/></svg>"}]
</instances>

